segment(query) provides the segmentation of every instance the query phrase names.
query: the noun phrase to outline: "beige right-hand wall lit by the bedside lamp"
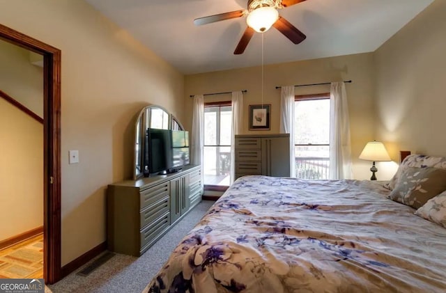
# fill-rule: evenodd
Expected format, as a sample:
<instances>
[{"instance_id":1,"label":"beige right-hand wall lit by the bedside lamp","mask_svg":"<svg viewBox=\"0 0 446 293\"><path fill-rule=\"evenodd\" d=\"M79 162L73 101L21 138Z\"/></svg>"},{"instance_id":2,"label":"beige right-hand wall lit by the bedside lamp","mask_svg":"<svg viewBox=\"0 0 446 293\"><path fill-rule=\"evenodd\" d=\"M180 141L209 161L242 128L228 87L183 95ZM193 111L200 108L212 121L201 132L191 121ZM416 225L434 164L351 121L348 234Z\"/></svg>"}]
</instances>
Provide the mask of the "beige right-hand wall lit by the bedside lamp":
<instances>
[{"instance_id":1,"label":"beige right-hand wall lit by the bedside lamp","mask_svg":"<svg viewBox=\"0 0 446 293\"><path fill-rule=\"evenodd\" d=\"M376 137L399 150L446 156L446 1L436 0L374 54Z\"/></svg>"}]
</instances>

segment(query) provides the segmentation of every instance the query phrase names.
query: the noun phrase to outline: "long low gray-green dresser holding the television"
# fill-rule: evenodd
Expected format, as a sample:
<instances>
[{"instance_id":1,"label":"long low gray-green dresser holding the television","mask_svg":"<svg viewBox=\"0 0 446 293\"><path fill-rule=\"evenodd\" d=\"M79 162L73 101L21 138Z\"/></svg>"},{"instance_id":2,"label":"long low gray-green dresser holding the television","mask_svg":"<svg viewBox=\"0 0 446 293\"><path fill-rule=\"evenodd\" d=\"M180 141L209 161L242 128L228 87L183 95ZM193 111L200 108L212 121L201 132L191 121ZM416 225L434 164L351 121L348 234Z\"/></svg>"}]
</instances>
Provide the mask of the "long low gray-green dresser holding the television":
<instances>
[{"instance_id":1,"label":"long low gray-green dresser holding the television","mask_svg":"<svg viewBox=\"0 0 446 293\"><path fill-rule=\"evenodd\" d=\"M107 245L109 251L139 256L200 203L201 167L109 184Z\"/></svg>"}]
</instances>

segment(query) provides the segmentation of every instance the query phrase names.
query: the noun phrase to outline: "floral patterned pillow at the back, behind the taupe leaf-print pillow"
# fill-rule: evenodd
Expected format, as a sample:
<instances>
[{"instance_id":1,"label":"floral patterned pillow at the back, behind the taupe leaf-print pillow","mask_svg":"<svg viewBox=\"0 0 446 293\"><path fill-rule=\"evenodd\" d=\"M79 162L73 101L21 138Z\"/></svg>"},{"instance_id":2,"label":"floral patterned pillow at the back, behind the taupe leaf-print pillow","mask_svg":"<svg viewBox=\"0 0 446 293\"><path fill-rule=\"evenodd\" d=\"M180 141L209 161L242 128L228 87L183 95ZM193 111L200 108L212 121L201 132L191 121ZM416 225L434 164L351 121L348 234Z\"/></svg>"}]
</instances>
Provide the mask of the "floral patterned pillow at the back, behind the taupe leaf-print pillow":
<instances>
[{"instance_id":1,"label":"floral patterned pillow at the back, behind the taupe leaf-print pillow","mask_svg":"<svg viewBox=\"0 0 446 293\"><path fill-rule=\"evenodd\" d=\"M446 157L408 155L406 159L404 159L399 165L397 173L395 173L390 182L385 184L384 187L393 190L395 188L395 185L397 185L397 182L399 180L399 177L401 177L401 174L407 168L410 167L418 167L418 168L434 167L434 168L446 169Z\"/></svg>"}]
</instances>

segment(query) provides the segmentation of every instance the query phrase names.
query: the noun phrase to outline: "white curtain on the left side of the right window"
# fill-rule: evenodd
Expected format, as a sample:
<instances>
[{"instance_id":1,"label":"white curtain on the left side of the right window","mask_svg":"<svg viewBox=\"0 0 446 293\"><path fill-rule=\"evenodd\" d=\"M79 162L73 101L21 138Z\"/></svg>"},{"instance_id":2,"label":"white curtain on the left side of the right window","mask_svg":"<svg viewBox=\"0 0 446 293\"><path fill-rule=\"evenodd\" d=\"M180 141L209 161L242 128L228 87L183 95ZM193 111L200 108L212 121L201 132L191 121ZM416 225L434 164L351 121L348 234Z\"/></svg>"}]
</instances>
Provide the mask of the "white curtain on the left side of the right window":
<instances>
[{"instance_id":1,"label":"white curtain on the left side of the right window","mask_svg":"<svg viewBox=\"0 0 446 293\"><path fill-rule=\"evenodd\" d=\"M295 177L294 86L282 86L280 93L280 133L290 134L290 176Z\"/></svg>"}]
</instances>

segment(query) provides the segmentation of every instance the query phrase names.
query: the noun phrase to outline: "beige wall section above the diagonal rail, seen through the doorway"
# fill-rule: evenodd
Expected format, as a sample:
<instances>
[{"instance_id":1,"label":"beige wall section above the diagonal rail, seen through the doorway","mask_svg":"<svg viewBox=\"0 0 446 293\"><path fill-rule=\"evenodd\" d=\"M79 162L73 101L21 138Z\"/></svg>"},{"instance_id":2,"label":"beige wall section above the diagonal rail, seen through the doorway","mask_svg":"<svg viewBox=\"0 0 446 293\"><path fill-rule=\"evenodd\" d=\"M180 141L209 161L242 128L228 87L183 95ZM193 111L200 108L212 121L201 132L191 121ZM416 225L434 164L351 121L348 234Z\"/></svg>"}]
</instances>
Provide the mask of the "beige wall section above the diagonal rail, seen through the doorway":
<instances>
[{"instance_id":1,"label":"beige wall section above the diagonal rail, seen through the doorway","mask_svg":"<svg viewBox=\"0 0 446 293\"><path fill-rule=\"evenodd\" d=\"M30 52L0 40L0 90L43 118L43 68Z\"/></svg>"}]
</instances>

